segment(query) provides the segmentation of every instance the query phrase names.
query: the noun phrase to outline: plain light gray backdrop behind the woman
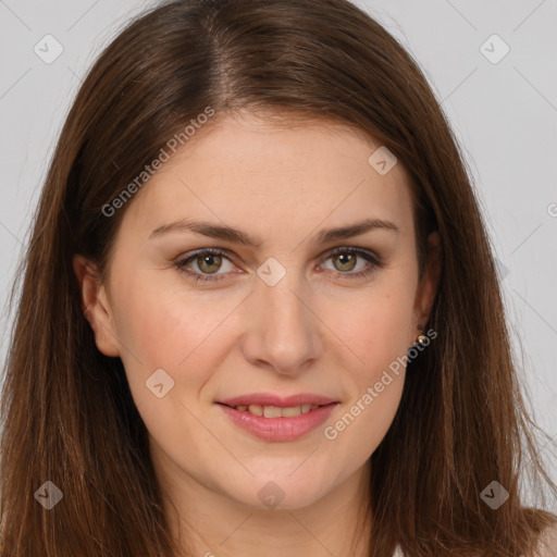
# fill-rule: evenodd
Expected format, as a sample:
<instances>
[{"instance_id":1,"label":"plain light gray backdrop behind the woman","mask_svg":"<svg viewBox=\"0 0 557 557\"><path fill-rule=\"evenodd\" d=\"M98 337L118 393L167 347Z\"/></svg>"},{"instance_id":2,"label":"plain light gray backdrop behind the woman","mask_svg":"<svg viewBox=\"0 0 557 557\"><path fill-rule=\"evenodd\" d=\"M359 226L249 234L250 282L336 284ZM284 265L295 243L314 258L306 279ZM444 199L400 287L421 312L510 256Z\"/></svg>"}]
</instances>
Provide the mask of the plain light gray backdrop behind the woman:
<instances>
[{"instance_id":1,"label":"plain light gray backdrop behind the woman","mask_svg":"<svg viewBox=\"0 0 557 557\"><path fill-rule=\"evenodd\" d=\"M127 20L151 3L0 0L2 307L82 76ZM531 405L540 425L557 438L557 0L356 3L411 51L456 131L500 263ZM63 47L51 64L34 51L36 45L46 50L48 34ZM510 48L497 63L494 57L505 47L490 39L494 34ZM5 311L1 329L3 360ZM545 458L554 453L549 448ZM549 465L556 478L555 460ZM552 508L557 510L555 502Z\"/></svg>"}]
</instances>

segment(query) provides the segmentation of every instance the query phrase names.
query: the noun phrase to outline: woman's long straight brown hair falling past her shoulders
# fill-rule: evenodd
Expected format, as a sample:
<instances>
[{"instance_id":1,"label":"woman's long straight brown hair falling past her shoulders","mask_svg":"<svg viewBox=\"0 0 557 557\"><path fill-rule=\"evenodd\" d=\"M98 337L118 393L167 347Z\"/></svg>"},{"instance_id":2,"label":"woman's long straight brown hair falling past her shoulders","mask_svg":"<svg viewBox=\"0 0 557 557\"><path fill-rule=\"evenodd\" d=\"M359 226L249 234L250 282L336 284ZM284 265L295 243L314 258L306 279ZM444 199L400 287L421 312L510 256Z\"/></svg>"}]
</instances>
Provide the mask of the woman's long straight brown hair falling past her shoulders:
<instances>
[{"instance_id":1,"label":"woman's long straight brown hair falling past her shoulders","mask_svg":"<svg viewBox=\"0 0 557 557\"><path fill-rule=\"evenodd\" d=\"M369 555L392 555L397 543L409 557L531 555L555 517L523 507L522 467L555 485L536 455L469 173L418 64L347 0L166 2L88 73L12 290L0 555L177 555L145 424L121 360L96 348L72 257L106 272L133 202L123 190L140 188L146 165L208 107L215 122L245 109L362 131L409 172L421 269L428 234L441 235L426 327L438 336L408 364L397 416L371 457ZM63 494L50 510L36 496L52 493L47 481ZM481 498L493 481L509 492L496 511Z\"/></svg>"}]
</instances>

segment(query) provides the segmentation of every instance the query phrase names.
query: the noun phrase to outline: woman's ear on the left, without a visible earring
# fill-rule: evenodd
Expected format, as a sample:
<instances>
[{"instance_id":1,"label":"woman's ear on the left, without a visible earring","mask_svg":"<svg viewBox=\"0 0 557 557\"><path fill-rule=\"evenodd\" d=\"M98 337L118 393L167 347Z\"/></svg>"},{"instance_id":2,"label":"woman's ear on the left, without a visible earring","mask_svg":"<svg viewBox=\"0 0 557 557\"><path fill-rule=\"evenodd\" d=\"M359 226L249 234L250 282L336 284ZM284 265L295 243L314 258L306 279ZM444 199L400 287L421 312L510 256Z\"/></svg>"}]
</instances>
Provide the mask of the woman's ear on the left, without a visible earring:
<instances>
[{"instance_id":1,"label":"woman's ear on the left, without a visible earring","mask_svg":"<svg viewBox=\"0 0 557 557\"><path fill-rule=\"evenodd\" d=\"M82 293L82 309L95 333L97 348L104 356L120 356L120 343L112 319L107 290L97 265L81 255L73 258L73 268Z\"/></svg>"}]
</instances>

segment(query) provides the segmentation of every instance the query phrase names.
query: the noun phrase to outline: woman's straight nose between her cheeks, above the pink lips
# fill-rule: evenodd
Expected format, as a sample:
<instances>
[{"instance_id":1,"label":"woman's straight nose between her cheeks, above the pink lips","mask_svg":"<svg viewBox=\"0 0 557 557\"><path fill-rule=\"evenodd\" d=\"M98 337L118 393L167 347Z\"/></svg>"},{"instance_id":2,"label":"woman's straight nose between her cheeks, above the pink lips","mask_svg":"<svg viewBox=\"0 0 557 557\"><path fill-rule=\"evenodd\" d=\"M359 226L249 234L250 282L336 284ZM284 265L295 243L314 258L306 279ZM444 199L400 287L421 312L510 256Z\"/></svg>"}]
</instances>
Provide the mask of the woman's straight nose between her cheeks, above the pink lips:
<instances>
[{"instance_id":1,"label":"woman's straight nose between her cheeks, above the pink lips","mask_svg":"<svg viewBox=\"0 0 557 557\"><path fill-rule=\"evenodd\" d=\"M244 357L282 375L302 373L322 354L321 322L307 284L290 270L274 286L258 280L244 305Z\"/></svg>"}]
</instances>

